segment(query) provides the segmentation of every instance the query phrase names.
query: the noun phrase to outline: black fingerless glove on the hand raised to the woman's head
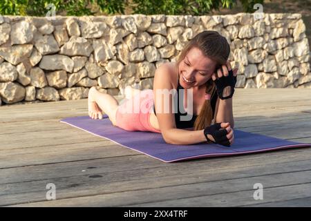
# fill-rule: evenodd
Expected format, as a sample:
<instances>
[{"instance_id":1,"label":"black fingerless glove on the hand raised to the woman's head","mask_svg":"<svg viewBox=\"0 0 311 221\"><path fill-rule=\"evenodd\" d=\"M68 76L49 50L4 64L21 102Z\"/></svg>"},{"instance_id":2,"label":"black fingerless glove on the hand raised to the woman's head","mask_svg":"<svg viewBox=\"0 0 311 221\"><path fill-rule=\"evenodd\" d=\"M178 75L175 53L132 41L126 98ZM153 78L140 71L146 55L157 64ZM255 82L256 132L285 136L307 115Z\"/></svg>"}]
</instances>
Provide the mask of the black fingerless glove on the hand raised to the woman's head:
<instances>
[{"instance_id":1,"label":"black fingerless glove on the hand raised to the woman's head","mask_svg":"<svg viewBox=\"0 0 311 221\"><path fill-rule=\"evenodd\" d=\"M222 76L215 81L216 84L216 90L218 97L220 99L229 99L234 95L234 86L236 86L236 76L233 74L233 70L229 70L229 75L228 76ZM223 90L227 87L231 87L231 94L227 97L223 97Z\"/></svg>"}]
</instances>

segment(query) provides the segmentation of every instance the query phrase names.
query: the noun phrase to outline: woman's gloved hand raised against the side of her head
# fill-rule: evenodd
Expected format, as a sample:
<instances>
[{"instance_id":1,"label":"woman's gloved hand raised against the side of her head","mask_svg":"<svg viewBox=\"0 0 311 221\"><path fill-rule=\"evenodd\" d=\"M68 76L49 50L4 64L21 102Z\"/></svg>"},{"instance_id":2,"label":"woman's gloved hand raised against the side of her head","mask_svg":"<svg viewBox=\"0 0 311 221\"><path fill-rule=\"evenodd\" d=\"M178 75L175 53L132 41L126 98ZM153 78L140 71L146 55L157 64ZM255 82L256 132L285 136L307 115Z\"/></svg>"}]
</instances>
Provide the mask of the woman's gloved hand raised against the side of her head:
<instances>
[{"instance_id":1,"label":"woman's gloved hand raised against the side of her head","mask_svg":"<svg viewBox=\"0 0 311 221\"><path fill-rule=\"evenodd\" d=\"M234 95L234 86L236 86L236 75L238 68L232 70L230 61L226 65L218 68L216 73L211 75L211 79L216 84L216 90L220 99L229 99Z\"/></svg>"}]
</instances>

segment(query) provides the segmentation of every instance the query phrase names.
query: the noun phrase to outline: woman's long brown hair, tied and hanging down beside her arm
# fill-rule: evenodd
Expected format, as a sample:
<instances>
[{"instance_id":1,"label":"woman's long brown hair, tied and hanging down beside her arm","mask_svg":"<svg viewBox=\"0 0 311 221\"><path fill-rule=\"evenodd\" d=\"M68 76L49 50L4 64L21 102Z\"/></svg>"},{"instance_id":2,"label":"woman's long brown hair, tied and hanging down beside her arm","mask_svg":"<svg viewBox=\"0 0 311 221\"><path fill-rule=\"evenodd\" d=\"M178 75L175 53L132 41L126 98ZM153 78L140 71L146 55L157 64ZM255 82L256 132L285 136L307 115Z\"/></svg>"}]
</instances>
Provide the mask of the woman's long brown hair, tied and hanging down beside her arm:
<instances>
[{"instance_id":1,"label":"woman's long brown hair, tied and hanging down beside her arm","mask_svg":"<svg viewBox=\"0 0 311 221\"><path fill-rule=\"evenodd\" d=\"M214 60L216 62L216 70L217 68L219 68L219 66L226 64L230 53L230 46L225 37L223 37L214 30L206 30L200 32L193 39L191 39L185 46L185 48L180 52L180 55L176 62L177 69L180 62L186 57L187 53L189 52L189 50L191 50L191 48L200 49L203 55L209 57L209 59ZM216 85L213 79L209 79L206 82L206 86L206 93L210 94L212 97L214 93L216 93ZM205 100L202 110L200 111L200 115L198 115L196 121L194 122L194 130L199 131L207 126L210 126L213 117L214 116L211 108L211 100Z\"/></svg>"}]
</instances>

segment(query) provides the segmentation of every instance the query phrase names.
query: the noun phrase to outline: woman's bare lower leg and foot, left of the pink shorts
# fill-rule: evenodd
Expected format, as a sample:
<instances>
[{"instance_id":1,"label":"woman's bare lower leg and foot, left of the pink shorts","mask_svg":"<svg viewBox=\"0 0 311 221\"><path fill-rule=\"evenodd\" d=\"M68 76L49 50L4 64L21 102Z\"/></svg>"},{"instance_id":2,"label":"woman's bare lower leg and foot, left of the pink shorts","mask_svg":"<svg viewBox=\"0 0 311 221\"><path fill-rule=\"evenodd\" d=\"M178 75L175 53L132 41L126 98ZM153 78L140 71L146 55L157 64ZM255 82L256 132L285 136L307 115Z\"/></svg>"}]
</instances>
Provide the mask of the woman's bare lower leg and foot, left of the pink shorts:
<instances>
[{"instance_id":1,"label":"woman's bare lower leg and foot, left of the pink shorts","mask_svg":"<svg viewBox=\"0 0 311 221\"><path fill-rule=\"evenodd\" d=\"M95 87L92 87L88 92L88 115L92 119L102 119L102 111L104 111L115 126L117 106L119 104L113 96L100 93Z\"/></svg>"}]
</instances>

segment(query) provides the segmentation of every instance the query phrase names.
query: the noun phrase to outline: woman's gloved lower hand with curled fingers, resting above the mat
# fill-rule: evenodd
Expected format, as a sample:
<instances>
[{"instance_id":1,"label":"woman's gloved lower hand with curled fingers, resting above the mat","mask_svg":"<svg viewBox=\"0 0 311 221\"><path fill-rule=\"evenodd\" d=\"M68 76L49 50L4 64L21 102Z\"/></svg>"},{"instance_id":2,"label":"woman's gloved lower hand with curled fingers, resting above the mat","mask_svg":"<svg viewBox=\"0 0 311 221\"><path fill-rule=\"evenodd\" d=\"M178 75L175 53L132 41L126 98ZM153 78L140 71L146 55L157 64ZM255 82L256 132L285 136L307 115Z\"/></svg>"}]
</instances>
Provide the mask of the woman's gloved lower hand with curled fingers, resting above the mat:
<instances>
[{"instance_id":1,"label":"woman's gloved lower hand with curled fingers, resting above the mat","mask_svg":"<svg viewBox=\"0 0 311 221\"><path fill-rule=\"evenodd\" d=\"M204 130L207 142L230 146L234 142L234 131L229 123L216 123Z\"/></svg>"}]
</instances>

